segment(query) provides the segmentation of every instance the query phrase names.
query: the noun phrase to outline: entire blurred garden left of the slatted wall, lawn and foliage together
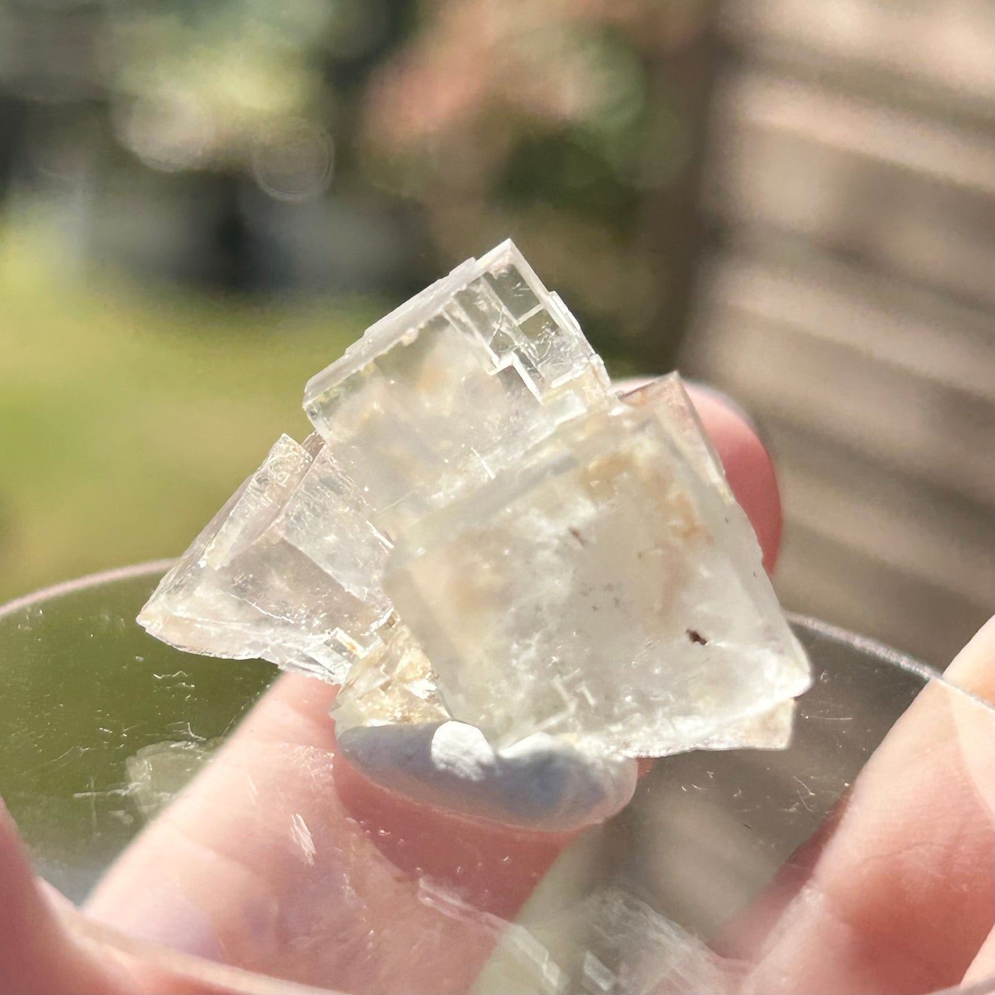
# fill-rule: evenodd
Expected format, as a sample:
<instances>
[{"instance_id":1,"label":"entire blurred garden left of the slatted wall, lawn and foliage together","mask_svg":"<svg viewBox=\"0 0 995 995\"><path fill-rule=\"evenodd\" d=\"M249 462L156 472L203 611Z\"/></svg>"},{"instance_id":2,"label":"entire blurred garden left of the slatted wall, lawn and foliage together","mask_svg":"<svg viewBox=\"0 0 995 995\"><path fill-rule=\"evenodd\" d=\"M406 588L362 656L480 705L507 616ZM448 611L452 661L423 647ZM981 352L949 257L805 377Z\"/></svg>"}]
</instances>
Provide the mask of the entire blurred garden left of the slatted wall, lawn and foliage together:
<instances>
[{"instance_id":1,"label":"entire blurred garden left of the slatted wall, lawn and foliage together","mask_svg":"<svg viewBox=\"0 0 995 995\"><path fill-rule=\"evenodd\" d=\"M181 550L309 374L508 235L668 367L710 10L0 0L0 599Z\"/></svg>"}]
</instances>

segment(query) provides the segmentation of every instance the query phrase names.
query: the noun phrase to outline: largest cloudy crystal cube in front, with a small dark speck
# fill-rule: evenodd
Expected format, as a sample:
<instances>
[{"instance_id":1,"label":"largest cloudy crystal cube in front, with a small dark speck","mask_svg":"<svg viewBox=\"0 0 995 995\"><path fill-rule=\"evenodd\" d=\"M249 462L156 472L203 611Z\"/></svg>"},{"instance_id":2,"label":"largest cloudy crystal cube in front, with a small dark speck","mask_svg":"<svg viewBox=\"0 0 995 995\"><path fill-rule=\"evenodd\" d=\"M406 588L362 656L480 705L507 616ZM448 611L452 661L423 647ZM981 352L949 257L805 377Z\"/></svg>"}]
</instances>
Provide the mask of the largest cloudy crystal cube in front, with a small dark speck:
<instances>
[{"instance_id":1,"label":"largest cloudy crystal cube in front, with a small dark speck","mask_svg":"<svg viewBox=\"0 0 995 995\"><path fill-rule=\"evenodd\" d=\"M630 756L746 745L808 687L743 512L675 430L690 407L673 382L644 394L391 553L385 590L449 710L498 746L536 730Z\"/></svg>"}]
</instances>

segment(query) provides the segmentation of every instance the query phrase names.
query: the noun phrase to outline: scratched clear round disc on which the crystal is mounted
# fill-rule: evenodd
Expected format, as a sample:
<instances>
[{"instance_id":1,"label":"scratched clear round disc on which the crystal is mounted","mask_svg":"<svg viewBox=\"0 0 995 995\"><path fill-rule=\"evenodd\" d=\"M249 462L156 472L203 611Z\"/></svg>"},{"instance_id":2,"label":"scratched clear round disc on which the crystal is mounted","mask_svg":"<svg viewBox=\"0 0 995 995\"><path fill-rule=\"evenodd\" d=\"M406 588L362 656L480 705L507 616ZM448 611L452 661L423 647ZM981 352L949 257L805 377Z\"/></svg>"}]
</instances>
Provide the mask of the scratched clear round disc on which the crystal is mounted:
<instances>
[{"instance_id":1,"label":"scratched clear round disc on which the crystal is mounted","mask_svg":"<svg viewBox=\"0 0 995 995\"><path fill-rule=\"evenodd\" d=\"M978 776L963 737L993 717L923 665L795 617L817 680L788 749L658 760L609 823L572 838L513 834L336 767L326 686L148 637L134 616L167 565L0 608L0 794L38 873L82 908L74 928L197 983L738 991L750 931L778 890L804 878L815 840L826 854L851 832L851 803L875 804L851 788L899 718L879 767L928 708L930 750L951 750L953 781ZM921 769L901 775L909 791L933 783L912 784ZM827 942L838 955L838 938ZM942 987L922 987L927 962L906 973L903 991ZM777 990L798 990L782 980Z\"/></svg>"}]
</instances>

